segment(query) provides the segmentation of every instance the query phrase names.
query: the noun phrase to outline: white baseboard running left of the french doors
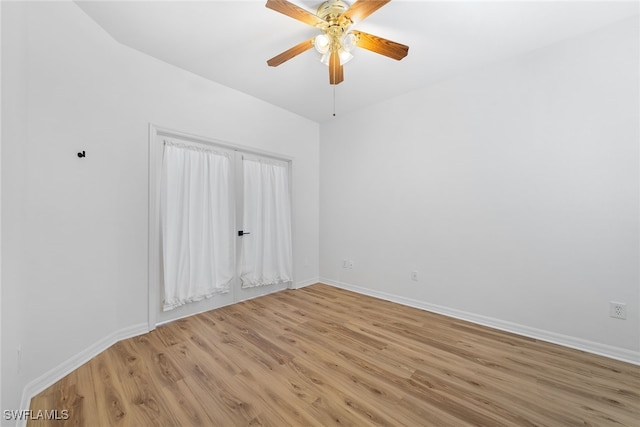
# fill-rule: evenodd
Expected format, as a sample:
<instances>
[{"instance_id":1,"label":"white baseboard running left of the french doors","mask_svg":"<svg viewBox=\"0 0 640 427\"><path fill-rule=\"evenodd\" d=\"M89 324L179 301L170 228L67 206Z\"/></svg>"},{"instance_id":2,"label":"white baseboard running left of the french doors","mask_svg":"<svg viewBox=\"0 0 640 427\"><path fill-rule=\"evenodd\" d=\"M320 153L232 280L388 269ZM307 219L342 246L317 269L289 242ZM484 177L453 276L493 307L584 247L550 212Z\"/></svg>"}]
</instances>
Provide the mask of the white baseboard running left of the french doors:
<instances>
[{"instance_id":1,"label":"white baseboard running left of the french doors","mask_svg":"<svg viewBox=\"0 0 640 427\"><path fill-rule=\"evenodd\" d=\"M28 410L31 404L31 398L37 395L38 393L45 390L47 387L55 384L57 381L65 377L70 372L78 369L80 366L87 363L89 360L93 359L98 354L102 353L113 344L118 341L125 340L127 338L132 338L138 335L142 335L149 332L149 328L147 323L140 323L133 326L128 326L126 328L117 330L101 340L97 341L90 347L87 347L80 353L66 360L65 362L59 364L55 368L45 372L40 375L38 378L30 381L22 391L22 400L20 402L21 410ZM26 420L20 420L17 423L18 427L23 427L27 424Z\"/></svg>"}]
</instances>

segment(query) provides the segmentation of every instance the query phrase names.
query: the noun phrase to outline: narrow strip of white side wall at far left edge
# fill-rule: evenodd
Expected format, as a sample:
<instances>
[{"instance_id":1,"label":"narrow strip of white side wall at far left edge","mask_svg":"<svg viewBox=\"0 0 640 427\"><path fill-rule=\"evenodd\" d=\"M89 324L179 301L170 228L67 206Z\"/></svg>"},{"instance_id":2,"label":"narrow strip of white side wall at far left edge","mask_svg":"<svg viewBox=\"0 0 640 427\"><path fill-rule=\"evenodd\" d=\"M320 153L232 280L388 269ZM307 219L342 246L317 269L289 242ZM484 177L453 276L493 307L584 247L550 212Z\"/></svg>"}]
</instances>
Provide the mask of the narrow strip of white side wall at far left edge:
<instances>
[{"instance_id":1,"label":"narrow strip of white side wall at far left edge","mask_svg":"<svg viewBox=\"0 0 640 427\"><path fill-rule=\"evenodd\" d=\"M18 409L20 398L21 368L18 364L17 346L24 335L22 315L27 306L26 292L22 282L24 264L23 241L21 239L24 215L24 199L20 196L25 190L24 150L20 142L26 140L26 70L25 17L22 10L10 14L8 4L1 2L2 8L2 409ZM8 17L12 15L12 19ZM8 35L11 35L9 38ZM11 40L11 43L9 42ZM7 161L12 159L11 162ZM12 177L13 189L8 191L8 179ZM8 244L11 242L11 244ZM3 417L4 418L4 417ZM4 425L4 424L3 424Z\"/></svg>"}]
</instances>

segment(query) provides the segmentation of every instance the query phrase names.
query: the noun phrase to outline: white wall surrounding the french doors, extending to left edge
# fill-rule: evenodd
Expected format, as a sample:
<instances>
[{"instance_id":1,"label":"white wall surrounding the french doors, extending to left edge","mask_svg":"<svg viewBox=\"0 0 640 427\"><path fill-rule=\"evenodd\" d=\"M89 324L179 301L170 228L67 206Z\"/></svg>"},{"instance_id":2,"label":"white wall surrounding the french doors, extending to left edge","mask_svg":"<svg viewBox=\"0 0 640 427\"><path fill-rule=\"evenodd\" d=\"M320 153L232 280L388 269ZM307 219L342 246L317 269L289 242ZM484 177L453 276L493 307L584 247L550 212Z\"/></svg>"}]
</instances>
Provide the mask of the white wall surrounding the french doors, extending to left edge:
<instances>
[{"instance_id":1,"label":"white wall surrounding the french doors, extending to left edge","mask_svg":"<svg viewBox=\"0 0 640 427\"><path fill-rule=\"evenodd\" d=\"M317 279L318 124L126 48L74 3L2 8L3 409L146 324L149 123L292 157L296 280Z\"/></svg>"}]
</instances>

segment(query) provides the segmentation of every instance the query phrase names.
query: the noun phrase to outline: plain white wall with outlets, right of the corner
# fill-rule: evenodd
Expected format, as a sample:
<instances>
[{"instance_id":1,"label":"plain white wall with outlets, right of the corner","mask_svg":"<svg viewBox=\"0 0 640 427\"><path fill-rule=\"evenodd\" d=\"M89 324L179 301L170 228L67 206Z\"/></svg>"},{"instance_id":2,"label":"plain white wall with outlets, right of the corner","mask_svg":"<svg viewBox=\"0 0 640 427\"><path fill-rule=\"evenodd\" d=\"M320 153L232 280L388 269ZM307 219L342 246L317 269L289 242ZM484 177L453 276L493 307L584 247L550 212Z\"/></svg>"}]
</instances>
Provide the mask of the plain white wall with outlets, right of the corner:
<instances>
[{"instance_id":1,"label":"plain white wall with outlets, right of the corner","mask_svg":"<svg viewBox=\"0 0 640 427\"><path fill-rule=\"evenodd\" d=\"M324 123L322 280L640 362L638 75L634 18Z\"/></svg>"}]
</instances>

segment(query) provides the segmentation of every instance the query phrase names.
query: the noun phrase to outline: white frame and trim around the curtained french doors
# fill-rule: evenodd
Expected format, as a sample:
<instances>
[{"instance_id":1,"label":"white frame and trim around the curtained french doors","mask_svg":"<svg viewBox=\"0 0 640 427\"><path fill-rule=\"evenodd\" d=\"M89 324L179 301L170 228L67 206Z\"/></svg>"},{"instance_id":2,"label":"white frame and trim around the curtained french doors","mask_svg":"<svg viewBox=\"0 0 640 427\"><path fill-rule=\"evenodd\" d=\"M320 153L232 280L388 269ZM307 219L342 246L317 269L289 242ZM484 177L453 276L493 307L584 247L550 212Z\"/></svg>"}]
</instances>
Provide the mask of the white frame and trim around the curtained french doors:
<instances>
[{"instance_id":1,"label":"white frame and trim around the curtained french doors","mask_svg":"<svg viewBox=\"0 0 640 427\"><path fill-rule=\"evenodd\" d=\"M149 123L149 206L148 206L149 230L148 230L148 253L147 253L147 261L148 261L147 320L148 320L149 330L152 331L156 328L156 326L164 323L164 322L158 322L158 314L160 313L160 307L158 305L158 302L160 298L160 280L161 280L161 272L160 272L160 267L161 267L161 264L160 264L160 261L161 261L160 260L160 245L161 245L161 242L160 242L160 190L161 188L160 188L160 183L161 183L161 174L162 174L162 154L163 154L162 139L163 138L175 138L175 139L180 139L180 140L184 140L184 141L192 142L196 144L204 144L207 146L212 146L212 147L220 148L223 150L235 151L236 156L234 157L237 157L237 152L242 152L250 155L272 158L272 159L276 159L276 160L284 161L288 163L289 197L291 200L291 239L292 239L292 249L293 249L292 250L293 277L292 277L292 281L289 283L287 288L293 288L294 284L296 283L295 282L296 251L295 251L295 237L294 237L295 217L294 217L294 209L293 209L293 206L294 206L294 198L293 198L294 159L290 156L286 156L279 153L260 150L253 147L235 144L232 142L223 141L215 138L193 135L186 132L176 131L176 130L164 128L164 127ZM235 187L238 170L236 168L235 161L233 163L234 163L234 166L232 170L234 171L234 173L231 176L231 181L234 183L234 187ZM235 197L236 196L234 193L233 195L234 204L235 204ZM235 205L234 205L234 208L235 208ZM236 223L237 216L238 216L237 212L235 212L233 215L234 230L237 230L237 223ZM235 233L234 233L234 236L235 236ZM234 239L233 251L234 251L234 254L237 254L238 253L237 251L238 237L237 236L235 237L236 238ZM238 259L237 259L237 256L235 256L234 258L236 259L235 271L237 276ZM248 295L248 298L239 299L238 290L235 289L236 287L238 287L237 283L238 283L238 278L236 277L234 279L235 286L232 286L232 289L229 292L229 294L231 294L231 297L227 298L227 300L223 304L221 304L220 307L224 305L234 304L236 302L240 302L245 299L250 299L250 298L254 298L257 296L266 295L270 293L268 289L265 289L264 293L259 293L259 294L255 294L256 291L253 291ZM207 310L211 310L211 308L205 308L199 312L203 312ZM181 317L192 316L197 313L198 311L194 313L186 314ZM179 318L180 317L176 317L175 319L171 319L167 321L173 321Z\"/></svg>"}]
</instances>

